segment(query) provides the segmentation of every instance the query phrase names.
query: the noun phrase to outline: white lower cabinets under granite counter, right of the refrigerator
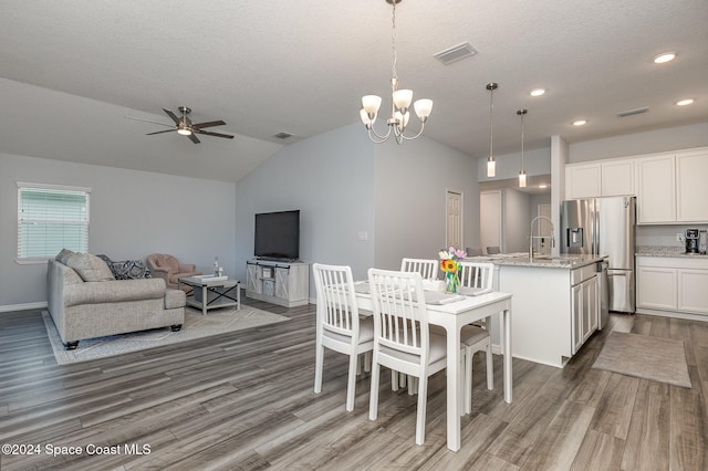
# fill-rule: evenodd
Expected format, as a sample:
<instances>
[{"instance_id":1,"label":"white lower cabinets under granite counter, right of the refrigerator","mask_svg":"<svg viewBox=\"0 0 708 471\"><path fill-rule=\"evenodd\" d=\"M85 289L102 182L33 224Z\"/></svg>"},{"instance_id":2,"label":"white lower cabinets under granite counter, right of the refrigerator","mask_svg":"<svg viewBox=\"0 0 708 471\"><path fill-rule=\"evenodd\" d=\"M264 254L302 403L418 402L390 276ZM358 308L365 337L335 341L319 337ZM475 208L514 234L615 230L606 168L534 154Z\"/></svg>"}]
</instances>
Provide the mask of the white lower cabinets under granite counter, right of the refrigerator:
<instances>
[{"instance_id":1,"label":"white lower cabinets under granite counter, right of the refrigerator","mask_svg":"<svg viewBox=\"0 0 708 471\"><path fill-rule=\"evenodd\" d=\"M637 257L636 266L638 312L708 315L708 258Z\"/></svg>"}]
</instances>

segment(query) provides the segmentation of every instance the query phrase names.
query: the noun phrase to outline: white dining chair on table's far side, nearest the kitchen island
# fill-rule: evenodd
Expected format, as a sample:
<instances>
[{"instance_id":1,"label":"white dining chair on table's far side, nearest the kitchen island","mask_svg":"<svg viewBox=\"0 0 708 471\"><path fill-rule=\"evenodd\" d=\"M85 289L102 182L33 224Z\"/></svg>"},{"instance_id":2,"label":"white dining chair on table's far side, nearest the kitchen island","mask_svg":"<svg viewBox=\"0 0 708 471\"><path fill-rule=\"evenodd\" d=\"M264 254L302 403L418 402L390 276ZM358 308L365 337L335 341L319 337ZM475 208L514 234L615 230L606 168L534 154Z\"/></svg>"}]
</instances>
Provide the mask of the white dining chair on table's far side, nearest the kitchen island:
<instances>
[{"instance_id":1,"label":"white dining chair on table's far side, nearest the kitchen island","mask_svg":"<svg viewBox=\"0 0 708 471\"><path fill-rule=\"evenodd\" d=\"M476 295L491 292L494 281L494 265L492 263L461 262L460 285L475 289ZM465 290L462 290L462 294ZM465 348L465 414L472 411L472 357L477 352L485 352L487 356L487 389L494 388L493 357L491 355L491 337L489 328L477 325L466 325L460 332L460 343Z\"/></svg>"}]
</instances>

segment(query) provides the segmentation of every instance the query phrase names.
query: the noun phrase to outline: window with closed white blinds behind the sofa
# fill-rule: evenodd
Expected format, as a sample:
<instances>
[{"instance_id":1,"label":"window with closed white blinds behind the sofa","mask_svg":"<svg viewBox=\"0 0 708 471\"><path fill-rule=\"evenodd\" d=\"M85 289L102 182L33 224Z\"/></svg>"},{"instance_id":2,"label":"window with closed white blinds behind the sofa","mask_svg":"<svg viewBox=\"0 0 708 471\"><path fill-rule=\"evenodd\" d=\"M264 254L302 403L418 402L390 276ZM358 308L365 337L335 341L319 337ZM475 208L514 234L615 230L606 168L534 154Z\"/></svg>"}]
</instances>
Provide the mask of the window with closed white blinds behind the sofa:
<instances>
[{"instance_id":1,"label":"window with closed white blinds behind the sofa","mask_svg":"<svg viewBox=\"0 0 708 471\"><path fill-rule=\"evenodd\" d=\"M18 262L44 262L62 249L86 252L90 192L18 181Z\"/></svg>"}]
</instances>

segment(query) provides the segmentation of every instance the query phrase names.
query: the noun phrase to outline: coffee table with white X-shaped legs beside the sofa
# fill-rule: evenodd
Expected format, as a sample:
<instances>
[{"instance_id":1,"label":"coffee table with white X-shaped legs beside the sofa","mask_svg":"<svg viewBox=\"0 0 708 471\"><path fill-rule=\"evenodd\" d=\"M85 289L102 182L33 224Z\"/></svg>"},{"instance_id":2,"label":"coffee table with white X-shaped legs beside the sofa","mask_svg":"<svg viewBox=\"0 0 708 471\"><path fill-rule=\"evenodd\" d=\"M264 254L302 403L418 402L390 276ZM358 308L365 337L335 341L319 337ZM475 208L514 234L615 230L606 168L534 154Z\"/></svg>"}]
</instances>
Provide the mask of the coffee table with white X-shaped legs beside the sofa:
<instances>
[{"instance_id":1,"label":"coffee table with white X-shaped legs beside the sofa","mask_svg":"<svg viewBox=\"0 0 708 471\"><path fill-rule=\"evenodd\" d=\"M201 315L218 307L241 308L241 283L237 280L189 276L178 280L180 289L183 284L191 286L194 291L192 295L187 296L187 305L201 310Z\"/></svg>"}]
</instances>

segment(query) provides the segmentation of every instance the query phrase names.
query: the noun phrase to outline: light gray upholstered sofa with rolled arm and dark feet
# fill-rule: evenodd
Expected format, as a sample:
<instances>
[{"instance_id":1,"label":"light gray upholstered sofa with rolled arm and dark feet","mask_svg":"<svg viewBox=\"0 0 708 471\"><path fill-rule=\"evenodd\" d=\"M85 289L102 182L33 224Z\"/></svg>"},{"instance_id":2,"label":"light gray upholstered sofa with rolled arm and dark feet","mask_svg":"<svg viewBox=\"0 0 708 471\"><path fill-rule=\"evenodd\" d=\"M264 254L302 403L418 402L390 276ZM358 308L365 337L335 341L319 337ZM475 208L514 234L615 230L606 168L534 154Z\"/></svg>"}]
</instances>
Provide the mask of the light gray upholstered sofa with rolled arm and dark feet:
<instances>
[{"instance_id":1,"label":"light gray upholstered sofa with rolled arm and dark feet","mask_svg":"<svg viewBox=\"0 0 708 471\"><path fill-rule=\"evenodd\" d=\"M49 261L49 312L66 349L86 338L171 327L185 322L186 296L163 279L115 280L95 255L63 250Z\"/></svg>"}]
</instances>

